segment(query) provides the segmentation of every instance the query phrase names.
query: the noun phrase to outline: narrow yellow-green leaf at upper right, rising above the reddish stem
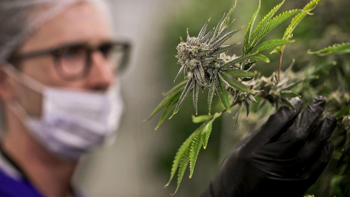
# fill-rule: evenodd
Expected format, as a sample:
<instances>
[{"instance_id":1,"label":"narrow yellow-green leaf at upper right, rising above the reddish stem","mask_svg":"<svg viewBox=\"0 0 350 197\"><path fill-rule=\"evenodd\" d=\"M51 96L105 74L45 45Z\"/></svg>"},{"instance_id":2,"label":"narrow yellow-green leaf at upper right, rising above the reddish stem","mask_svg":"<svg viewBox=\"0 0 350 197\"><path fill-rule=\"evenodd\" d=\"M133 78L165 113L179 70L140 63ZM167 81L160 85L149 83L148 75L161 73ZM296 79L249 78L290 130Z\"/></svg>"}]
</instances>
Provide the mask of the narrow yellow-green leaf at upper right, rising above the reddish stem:
<instances>
[{"instance_id":1,"label":"narrow yellow-green leaf at upper right, rising above the reddish stem","mask_svg":"<svg viewBox=\"0 0 350 197\"><path fill-rule=\"evenodd\" d=\"M304 11L307 12L311 12L317 5L318 2L320 2L322 0L312 0L310 1L308 4L306 4L303 8ZM289 39L293 36L293 31L295 29L295 27L299 24L299 22L304 19L304 17L307 15L306 12L301 12L297 15L294 16L294 18L292 19L292 22L289 24L289 26L286 28L285 32L283 33L283 39ZM271 53L276 53L276 52L280 52L281 51L281 47L276 47L273 52Z\"/></svg>"}]
</instances>

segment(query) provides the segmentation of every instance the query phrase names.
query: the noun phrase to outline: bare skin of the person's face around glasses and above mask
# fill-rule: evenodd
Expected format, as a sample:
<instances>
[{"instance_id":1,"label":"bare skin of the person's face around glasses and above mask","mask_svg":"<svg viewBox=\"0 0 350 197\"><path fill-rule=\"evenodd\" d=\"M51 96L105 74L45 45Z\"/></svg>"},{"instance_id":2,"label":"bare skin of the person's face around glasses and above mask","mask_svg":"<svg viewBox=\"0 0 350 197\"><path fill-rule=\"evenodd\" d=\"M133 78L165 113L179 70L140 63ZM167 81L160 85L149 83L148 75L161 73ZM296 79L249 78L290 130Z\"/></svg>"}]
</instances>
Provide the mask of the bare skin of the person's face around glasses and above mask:
<instances>
[{"instance_id":1,"label":"bare skin of the person's face around glasses and above mask","mask_svg":"<svg viewBox=\"0 0 350 197\"><path fill-rule=\"evenodd\" d=\"M113 30L110 21L101 9L93 4L79 3L44 23L16 53L26 54L77 42L99 46L112 40ZM92 53L91 60L89 73L75 81L68 81L59 76L52 55L26 59L20 63L20 68L23 73L46 86L78 90L107 89L115 78L112 67L99 51ZM9 84L12 86L12 91L10 96L7 95L9 97L7 99L14 97L29 114L40 115L42 95L30 87L11 81Z\"/></svg>"}]
</instances>

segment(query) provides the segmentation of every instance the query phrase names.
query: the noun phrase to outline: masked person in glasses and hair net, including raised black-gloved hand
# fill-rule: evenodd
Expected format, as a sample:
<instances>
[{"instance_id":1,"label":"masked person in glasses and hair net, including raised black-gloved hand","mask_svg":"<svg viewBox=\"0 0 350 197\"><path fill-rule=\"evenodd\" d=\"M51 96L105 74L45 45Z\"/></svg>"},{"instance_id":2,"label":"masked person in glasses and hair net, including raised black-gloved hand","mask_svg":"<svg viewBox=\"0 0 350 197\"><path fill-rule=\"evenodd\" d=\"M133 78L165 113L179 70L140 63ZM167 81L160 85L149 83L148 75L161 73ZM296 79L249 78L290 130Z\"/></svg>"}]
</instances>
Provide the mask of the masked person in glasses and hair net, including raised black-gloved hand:
<instances>
[{"instance_id":1,"label":"masked person in glasses and hair net, including raised black-gloved hand","mask_svg":"<svg viewBox=\"0 0 350 197\"><path fill-rule=\"evenodd\" d=\"M117 41L102 0L0 0L1 197L84 196L79 158L113 137L123 101ZM323 97L283 106L239 141L201 196L301 196L327 165L336 120Z\"/></svg>"}]
</instances>

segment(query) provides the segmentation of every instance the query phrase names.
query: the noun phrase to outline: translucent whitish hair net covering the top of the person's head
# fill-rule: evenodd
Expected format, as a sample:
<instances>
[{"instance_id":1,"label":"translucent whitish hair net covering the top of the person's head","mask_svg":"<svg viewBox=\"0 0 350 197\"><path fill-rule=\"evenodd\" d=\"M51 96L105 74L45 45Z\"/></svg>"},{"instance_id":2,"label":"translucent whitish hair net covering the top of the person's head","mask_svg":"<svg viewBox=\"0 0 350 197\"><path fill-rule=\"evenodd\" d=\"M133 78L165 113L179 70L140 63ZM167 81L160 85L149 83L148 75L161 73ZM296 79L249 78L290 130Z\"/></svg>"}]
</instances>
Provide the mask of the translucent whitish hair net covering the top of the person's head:
<instances>
[{"instance_id":1,"label":"translucent whitish hair net covering the top of the person's head","mask_svg":"<svg viewBox=\"0 0 350 197\"><path fill-rule=\"evenodd\" d=\"M0 60L8 60L43 23L78 2L92 2L109 13L104 0L0 0Z\"/></svg>"}]
</instances>

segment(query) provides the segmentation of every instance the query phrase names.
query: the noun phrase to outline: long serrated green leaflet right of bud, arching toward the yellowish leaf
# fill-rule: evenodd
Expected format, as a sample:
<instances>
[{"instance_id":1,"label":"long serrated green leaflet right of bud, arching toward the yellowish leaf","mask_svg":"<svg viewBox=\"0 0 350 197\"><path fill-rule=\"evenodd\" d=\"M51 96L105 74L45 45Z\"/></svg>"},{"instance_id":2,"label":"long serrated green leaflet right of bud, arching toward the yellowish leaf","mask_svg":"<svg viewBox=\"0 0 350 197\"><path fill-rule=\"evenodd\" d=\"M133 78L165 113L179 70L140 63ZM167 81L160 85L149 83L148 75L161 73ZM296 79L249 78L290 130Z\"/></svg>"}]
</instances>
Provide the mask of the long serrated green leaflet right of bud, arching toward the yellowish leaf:
<instances>
[{"instance_id":1,"label":"long serrated green leaflet right of bud, arching toward the yellowish leaf","mask_svg":"<svg viewBox=\"0 0 350 197\"><path fill-rule=\"evenodd\" d=\"M300 12L302 12L301 9L292 9L289 11L282 12L281 14L275 16L273 19L269 20L266 23L264 29L262 29L261 32L257 35L257 37L254 38L254 40L251 43L251 47L254 47L256 43L258 43L260 39L264 37L268 32L270 32L273 28L281 24L283 21L287 20L290 16L299 14Z\"/></svg>"}]
</instances>

